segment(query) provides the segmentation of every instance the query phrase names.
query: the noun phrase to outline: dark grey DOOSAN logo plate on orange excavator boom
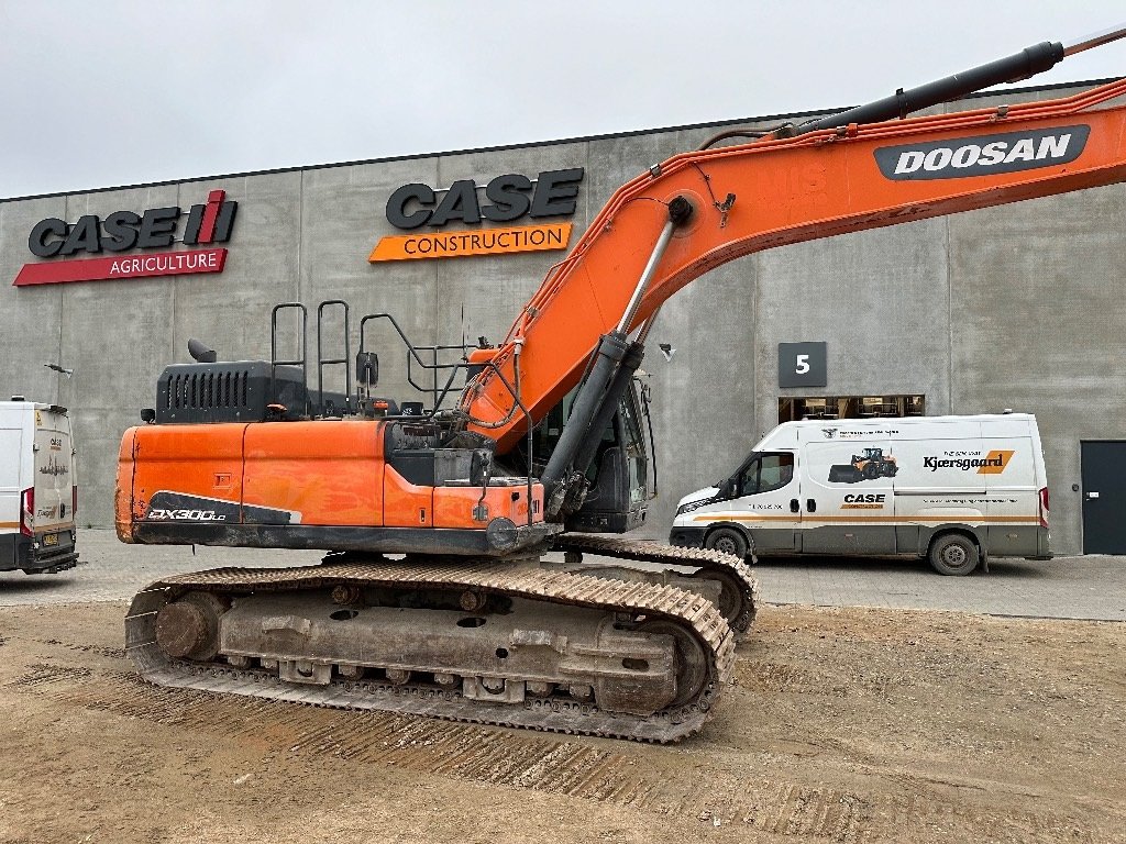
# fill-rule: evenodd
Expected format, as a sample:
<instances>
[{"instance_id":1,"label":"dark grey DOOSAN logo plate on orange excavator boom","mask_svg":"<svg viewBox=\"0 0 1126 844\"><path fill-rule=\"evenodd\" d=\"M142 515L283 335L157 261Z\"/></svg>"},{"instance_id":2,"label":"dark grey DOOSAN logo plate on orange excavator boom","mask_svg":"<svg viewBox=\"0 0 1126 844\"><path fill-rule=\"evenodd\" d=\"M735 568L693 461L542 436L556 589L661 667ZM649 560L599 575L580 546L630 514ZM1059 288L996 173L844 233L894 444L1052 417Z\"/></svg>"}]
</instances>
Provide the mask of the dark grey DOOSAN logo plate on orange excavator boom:
<instances>
[{"instance_id":1,"label":"dark grey DOOSAN logo plate on orange excavator boom","mask_svg":"<svg viewBox=\"0 0 1126 844\"><path fill-rule=\"evenodd\" d=\"M1090 133L1090 126L1079 125L884 146L875 152L876 164L894 181L1013 173L1074 161L1087 146Z\"/></svg>"}]
</instances>

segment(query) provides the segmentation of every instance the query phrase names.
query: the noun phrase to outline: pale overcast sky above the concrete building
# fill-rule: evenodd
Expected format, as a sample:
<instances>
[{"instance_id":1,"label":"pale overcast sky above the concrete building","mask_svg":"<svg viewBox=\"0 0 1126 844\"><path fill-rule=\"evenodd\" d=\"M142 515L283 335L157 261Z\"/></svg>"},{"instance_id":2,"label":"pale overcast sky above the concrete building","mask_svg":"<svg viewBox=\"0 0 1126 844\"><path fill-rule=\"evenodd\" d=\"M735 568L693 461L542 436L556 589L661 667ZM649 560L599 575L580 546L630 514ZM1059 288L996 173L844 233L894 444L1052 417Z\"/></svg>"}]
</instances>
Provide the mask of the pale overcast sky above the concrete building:
<instances>
[{"instance_id":1,"label":"pale overcast sky above the concrete building","mask_svg":"<svg viewBox=\"0 0 1126 844\"><path fill-rule=\"evenodd\" d=\"M0 198L857 105L1121 0L0 0ZM1022 84L1126 75L1126 41Z\"/></svg>"}]
</instances>

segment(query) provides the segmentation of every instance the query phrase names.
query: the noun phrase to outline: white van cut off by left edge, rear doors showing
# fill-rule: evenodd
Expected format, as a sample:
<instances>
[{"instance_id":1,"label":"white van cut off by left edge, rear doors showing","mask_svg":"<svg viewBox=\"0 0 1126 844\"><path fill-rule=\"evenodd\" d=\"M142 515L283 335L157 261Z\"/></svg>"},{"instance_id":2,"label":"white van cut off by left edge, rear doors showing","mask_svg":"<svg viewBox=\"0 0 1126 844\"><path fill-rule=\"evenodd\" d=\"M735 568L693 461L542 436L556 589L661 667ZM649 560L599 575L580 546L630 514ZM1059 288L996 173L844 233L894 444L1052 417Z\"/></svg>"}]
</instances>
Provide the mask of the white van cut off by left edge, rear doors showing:
<instances>
[{"instance_id":1,"label":"white van cut off by left edge, rear doors showing","mask_svg":"<svg viewBox=\"0 0 1126 844\"><path fill-rule=\"evenodd\" d=\"M78 563L75 484L66 408L0 402L0 571L53 574Z\"/></svg>"}]
</instances>

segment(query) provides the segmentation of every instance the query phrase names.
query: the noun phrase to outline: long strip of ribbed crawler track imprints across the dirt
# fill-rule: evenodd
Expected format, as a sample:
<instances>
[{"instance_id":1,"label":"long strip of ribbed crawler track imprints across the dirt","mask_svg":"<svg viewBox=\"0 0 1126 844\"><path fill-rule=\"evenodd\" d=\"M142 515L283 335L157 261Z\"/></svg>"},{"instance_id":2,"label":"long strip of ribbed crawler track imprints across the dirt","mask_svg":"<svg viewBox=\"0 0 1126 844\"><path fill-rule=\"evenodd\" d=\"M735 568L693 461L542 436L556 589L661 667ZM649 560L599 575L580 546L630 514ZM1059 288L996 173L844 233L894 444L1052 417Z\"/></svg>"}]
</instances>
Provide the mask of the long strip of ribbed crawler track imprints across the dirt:
<instances>
[{"instance_id":1,"label":"long strip of ribbed crawler track imprints across the dirt","mask_svg":"<svg viewBox=\"0 0 1126 844\"><path fill-rule=\"evenodd\" d=\"M55 643L50 643L54 645ZM68 649L84 650L84 647ZM799 684L799 683L798 683ZM998 817L919 793L811 788L778 779L747 781L724 771L677 771L676 751L629 753L601 740L568 740L384 712L341 712L269 700L232 700L166 690L132 671L93 675L80 666L35 663L8 685L69 706L177 727L227 742L265 744L269 762L323 757L528 789L641 811L695 817L797 838L869 844L905 828L973 829ZM888 781L893 787L895 778ZM1084 842L1067 818L1007 816L1024 842Z\"/></svg>"}]
</instances>

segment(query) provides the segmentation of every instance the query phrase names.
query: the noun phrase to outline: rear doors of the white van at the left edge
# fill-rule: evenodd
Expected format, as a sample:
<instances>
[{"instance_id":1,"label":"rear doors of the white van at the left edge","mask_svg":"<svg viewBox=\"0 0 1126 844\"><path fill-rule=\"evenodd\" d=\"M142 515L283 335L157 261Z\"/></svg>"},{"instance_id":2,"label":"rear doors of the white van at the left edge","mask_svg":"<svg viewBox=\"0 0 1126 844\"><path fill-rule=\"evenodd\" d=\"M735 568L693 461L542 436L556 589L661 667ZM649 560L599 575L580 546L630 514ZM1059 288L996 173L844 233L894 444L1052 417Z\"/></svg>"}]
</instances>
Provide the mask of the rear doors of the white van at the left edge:
<instances>
[{"instance_id":1,"label":"rear doors of the white van at the left edge","mask_svg":"<svg viewBox=\"0 0 1126 844\"><path fill-rule=\"evenodd\" d=\"M35 413L35 533L45 551L71 545L74 527L74 449L70 419L52 407Z\"/></svg>"}]
</instances>

